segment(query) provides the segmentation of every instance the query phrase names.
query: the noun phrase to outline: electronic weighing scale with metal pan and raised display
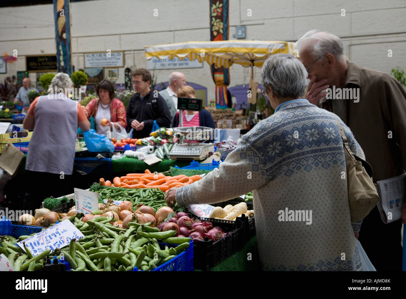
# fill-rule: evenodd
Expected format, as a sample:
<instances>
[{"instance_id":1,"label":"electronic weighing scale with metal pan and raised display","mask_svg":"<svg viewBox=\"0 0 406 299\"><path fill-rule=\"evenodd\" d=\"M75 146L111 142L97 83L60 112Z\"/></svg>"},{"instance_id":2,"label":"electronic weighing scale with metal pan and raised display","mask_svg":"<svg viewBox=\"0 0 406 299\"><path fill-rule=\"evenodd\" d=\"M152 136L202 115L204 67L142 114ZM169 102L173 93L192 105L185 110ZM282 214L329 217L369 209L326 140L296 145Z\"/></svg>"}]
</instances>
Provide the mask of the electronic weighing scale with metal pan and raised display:
<instances>
[{"instance_id":1,"label":"electronic weighing scale with metal pan and raised display","mask_svg":"<svg viewBox=\"0 0 406 299\"><path fill-rule=\"evenodd\" d=\"M173 128L180 144L175 144L169 153L173 160L201 161L214 153L213 143L202 143L214 138L214 129L208 127L183 127L183 110L201 111L202 100L196 98L178 98L179 127Z\"/></svg>"}]
</instances>

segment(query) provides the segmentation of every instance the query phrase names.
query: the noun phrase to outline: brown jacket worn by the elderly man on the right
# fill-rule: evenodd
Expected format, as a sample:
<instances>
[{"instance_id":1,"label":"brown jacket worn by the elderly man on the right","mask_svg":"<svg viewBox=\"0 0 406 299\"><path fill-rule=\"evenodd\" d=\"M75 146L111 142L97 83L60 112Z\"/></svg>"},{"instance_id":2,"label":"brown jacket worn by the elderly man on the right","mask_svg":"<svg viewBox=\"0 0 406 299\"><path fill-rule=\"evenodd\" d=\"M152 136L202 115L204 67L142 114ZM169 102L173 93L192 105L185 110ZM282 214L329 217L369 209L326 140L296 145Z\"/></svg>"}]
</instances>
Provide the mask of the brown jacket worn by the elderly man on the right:
<instances>
[{"instance_id":1,"label":"brown jacket worn by the elderly man on the right","mask_svg":"<svg viewBox=\"0 0 406 299\"><path fill-rule=\"evenodd\" d=\"M372 166L374 181L401 175L406 169L406 91L387 73L347 63L343 88L359 88L359 102L322 98L319 107L350 127Z\"/></svg>"}]
</instances>

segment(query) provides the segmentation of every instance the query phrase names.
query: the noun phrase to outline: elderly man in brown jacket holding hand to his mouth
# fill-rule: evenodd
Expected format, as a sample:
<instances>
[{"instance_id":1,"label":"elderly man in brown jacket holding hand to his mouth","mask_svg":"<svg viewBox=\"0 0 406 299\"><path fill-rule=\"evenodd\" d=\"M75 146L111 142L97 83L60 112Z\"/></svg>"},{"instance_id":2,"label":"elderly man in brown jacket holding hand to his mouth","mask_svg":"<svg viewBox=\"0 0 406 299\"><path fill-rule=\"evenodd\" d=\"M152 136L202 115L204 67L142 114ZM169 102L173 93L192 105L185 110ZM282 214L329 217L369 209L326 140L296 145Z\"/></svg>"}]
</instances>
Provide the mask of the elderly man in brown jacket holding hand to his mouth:
<instances>
[{"instance_id":1,"label":"elderly man in brown jacket holding hand to his mouth","mask_svg":"<svg viewBox=\"0 0 406 299\"><path fill-rule=\"evenodd\" d=\"M331 33L311 30L296 42L296 49L311 79L307 100L337 114L351 128L372 166L374 183L404 173L406 91L402 85L389 74L346 60L340 38ZM343 94L343 88L353 92L347 99L335 95L327 99L325 90L333 87ZM402 210L406 223L406 201ZM401 228L401 220L384 224L377 206L363 220L359 240L378 271L401 271Z\"/></svg>"}]
</instances>

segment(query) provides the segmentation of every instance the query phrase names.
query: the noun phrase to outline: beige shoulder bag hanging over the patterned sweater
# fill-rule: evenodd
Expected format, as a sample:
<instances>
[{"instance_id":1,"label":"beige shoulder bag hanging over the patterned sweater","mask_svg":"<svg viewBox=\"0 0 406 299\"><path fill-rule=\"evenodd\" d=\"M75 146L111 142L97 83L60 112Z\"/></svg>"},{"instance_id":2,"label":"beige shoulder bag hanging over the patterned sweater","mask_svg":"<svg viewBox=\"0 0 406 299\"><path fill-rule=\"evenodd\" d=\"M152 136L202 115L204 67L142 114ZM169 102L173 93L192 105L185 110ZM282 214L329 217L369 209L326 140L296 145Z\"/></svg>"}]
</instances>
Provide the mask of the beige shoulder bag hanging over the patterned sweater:
<instances>
[{"instance_id":1,"label":"beige shoulder bag hanging over the patterned sweater","mask_svg":"<svg viewBox=\"0 0 406 299\"><path fill-rule=\"evenodd\" d=\"M344 155L346 156L348 202L350 204L351 221L364 219L380 200L376 185L372 181L372 168L368 162L352 153L343 127L334 116L343 139ZM367 168L370 171L368 174Z\"/></svg>"}]
</instances>

